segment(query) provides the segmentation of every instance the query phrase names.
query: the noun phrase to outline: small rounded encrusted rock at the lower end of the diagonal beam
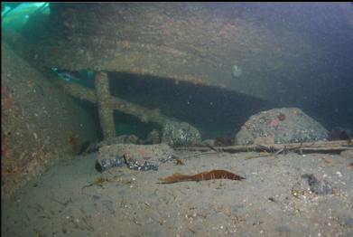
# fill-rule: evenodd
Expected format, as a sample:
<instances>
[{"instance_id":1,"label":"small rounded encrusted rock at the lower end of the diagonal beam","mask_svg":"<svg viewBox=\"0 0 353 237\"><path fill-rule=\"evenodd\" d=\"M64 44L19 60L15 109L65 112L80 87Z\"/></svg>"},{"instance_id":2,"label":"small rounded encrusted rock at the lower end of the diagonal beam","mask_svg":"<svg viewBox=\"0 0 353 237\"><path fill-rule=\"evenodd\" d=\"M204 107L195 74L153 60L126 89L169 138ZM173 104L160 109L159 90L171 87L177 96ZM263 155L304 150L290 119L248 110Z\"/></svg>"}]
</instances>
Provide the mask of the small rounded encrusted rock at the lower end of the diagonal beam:
<instances>
[{"instance_id":1,"label":"small rounded encrusted rock at the lower end of the diagonal beam","mask_svg":"<svg viewBox=\"0 0 353 237\"><path fill-rule=\"evenodd\" d=\"M172 147L197 145L201 142L199 130L185 122L166 122L162 134L162 142Z\"/></svg>"}]
</instances>

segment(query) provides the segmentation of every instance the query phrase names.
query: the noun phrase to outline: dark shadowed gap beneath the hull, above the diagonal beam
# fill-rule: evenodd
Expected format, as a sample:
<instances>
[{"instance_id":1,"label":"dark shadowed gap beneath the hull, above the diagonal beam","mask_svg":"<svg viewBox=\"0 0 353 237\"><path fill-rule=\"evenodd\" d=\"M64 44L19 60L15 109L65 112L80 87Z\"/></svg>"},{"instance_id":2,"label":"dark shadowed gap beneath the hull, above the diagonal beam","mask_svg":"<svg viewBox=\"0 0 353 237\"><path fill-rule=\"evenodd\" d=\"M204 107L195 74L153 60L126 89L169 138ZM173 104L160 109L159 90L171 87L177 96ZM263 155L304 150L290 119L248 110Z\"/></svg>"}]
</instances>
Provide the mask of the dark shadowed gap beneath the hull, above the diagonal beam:
<instances>
[{"instance_id":1,"label":"dark shadowed gap beneath the hull, above the diagonal beam","mask_svg":"<svg viewBox=\"0 0 353 237\"><path fill-rule=\"evenodd\" d=\"M108 75L112 95L187 121L204 138L232 135L249 116L275 107L274 102L185 81L117 72Z\"/></svg>"}]
</instances>

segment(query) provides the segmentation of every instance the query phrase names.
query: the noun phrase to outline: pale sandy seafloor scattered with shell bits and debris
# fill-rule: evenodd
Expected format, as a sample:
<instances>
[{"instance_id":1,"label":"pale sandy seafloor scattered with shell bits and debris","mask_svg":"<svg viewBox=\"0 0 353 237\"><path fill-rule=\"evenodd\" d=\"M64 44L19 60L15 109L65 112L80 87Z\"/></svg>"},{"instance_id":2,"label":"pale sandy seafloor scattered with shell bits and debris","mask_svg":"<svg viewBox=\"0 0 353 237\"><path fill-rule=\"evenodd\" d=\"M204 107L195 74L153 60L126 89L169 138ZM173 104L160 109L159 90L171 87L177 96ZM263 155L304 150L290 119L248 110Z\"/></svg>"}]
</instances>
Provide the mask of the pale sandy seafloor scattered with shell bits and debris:
<instances>
[{"instance_id":1,"label":"pale sandy seafloor scattered with shell bits and debris","mask_svg":"<svg viewBox=\"0 0 353 237\"><path fill-rule=\"evenodd\" d=\"M97 154L62 160L2 202L2 236L353 236L351 154L194 154L177 152L183 166L103 174ZM212 169L246 179L158 184ZM294 196L304 174L326 180L333 194ZM82 188L101 176L109 181Z\"/></svg>"}]
</instances>

